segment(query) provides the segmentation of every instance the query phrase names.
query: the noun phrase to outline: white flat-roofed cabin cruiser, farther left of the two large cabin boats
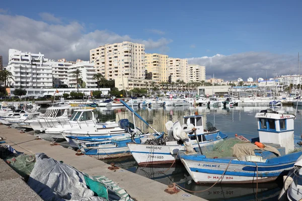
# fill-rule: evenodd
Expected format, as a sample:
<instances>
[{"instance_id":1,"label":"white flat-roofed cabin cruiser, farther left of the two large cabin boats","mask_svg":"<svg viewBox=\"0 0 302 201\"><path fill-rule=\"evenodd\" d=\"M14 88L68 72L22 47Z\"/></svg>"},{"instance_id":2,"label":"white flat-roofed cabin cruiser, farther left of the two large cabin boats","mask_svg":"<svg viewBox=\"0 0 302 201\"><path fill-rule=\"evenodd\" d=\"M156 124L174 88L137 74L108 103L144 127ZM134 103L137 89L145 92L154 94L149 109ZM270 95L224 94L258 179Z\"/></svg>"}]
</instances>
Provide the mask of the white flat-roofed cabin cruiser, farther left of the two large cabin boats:
<instances>
[{"instance_id":1,"label":"white flat-roofed cabin cruiser, farther left of the two large cabin boats","mask_svg":"<svg viewBox=\"0 0 302 201\"><path fill-rule=\"evenodd\" d=\"M70 105L54 106L47 108L44 116L35 119L28 119L24 123L29 124L34 131L43 132L47 128L55 127L60 123L68 121L68 110Z\"/></svg>"}]
</instances>

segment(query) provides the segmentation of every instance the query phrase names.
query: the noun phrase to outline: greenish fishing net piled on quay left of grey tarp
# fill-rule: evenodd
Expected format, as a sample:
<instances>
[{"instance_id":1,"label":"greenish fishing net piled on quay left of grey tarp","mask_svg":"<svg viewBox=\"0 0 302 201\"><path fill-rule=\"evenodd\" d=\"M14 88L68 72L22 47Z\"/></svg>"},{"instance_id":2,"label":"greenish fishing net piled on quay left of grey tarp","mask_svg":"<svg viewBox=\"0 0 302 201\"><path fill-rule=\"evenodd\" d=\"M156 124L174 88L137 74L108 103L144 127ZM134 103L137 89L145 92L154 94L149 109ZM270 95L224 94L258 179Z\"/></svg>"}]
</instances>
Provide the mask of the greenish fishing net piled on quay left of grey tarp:
<instances>
[{"instance_id":1,"label":"greenish fishing net piled on quay left of grey tarp","mask_svg":"<svg viewBox=\"0 0 302 201\"><path fill-rule=\"evenodd\" d=\"M17 157L9 157L6 161L22 177L27 177L35 166L35 159L35 155L22 154Z\"/></svg>"}]
</instances>

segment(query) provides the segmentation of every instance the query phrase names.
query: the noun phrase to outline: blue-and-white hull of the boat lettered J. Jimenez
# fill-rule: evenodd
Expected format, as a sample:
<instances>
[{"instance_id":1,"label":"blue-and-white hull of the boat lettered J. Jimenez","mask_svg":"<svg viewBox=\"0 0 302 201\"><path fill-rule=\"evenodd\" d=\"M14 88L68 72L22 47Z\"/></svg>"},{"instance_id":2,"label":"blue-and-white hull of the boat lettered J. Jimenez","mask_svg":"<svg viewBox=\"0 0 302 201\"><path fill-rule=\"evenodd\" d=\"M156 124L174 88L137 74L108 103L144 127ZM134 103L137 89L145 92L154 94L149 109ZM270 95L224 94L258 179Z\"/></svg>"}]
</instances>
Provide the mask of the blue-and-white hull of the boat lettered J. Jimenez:
<instances>
[{"instance_id":1,"label":"blue-and-white hull of the boat lettered J. Jimenez","mask_svg":"<svg viewBox=\"0 0 302 201\"><path fill-rule=\"evenodd\" d=\"M274 181L286 174L301 154L287 154L266 162L212 159L199 154L187 156L184 153L180 153L180 158L196 183L215 183L218 179L219 183L261 183Z\"/></svg>"}]
</instances>

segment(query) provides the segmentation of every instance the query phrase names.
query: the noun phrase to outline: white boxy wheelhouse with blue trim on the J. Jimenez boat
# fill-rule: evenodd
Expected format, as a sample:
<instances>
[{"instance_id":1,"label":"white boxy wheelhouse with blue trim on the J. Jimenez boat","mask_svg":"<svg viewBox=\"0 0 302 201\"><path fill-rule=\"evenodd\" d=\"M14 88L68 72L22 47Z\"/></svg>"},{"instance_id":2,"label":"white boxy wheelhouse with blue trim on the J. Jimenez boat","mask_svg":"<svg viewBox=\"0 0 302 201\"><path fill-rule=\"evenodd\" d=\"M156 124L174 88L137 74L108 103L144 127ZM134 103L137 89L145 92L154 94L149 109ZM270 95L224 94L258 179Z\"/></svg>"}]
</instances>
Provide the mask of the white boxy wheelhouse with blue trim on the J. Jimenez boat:
<instances>
[{"instance_id":1,"label":"white boxy wheelhouse with blue trim on the J. Jimenez boat","mask_svg":"<svg viewBox=\"0 0 302 201\"><path fill-rule=\"evenodd\" d=\"M256 113L259 141L285 148L285 154L294 149L293 121L295 116L284 111L264 110Z\"/></svg>"}]
</instances>

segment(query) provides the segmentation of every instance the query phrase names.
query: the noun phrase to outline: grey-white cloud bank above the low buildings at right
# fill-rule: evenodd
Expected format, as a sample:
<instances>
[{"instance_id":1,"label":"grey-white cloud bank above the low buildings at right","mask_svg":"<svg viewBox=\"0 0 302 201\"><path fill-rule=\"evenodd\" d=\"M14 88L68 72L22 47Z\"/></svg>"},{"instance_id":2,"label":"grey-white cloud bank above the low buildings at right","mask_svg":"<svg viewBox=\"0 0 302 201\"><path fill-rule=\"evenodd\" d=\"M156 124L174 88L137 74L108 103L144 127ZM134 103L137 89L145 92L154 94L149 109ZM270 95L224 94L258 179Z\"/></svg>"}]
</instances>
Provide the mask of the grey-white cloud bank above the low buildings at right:
<instances>
[{"instance_id":1,"label":"grey-white cloud bank above the low buildings at right","mask_svg":"<svg viewBox=\"0 0 302 201\"><path fill-rule=\"evenodd\" d=\"M273 54L269 52L244 52L232 55L216 54L212 57L188 58L188 63L205 66L206 75L227 80L237 80L249 76L268 77L276 75L298 74L297 58L293 55Z\"/></svg>"}]
</instances>

